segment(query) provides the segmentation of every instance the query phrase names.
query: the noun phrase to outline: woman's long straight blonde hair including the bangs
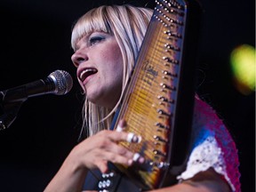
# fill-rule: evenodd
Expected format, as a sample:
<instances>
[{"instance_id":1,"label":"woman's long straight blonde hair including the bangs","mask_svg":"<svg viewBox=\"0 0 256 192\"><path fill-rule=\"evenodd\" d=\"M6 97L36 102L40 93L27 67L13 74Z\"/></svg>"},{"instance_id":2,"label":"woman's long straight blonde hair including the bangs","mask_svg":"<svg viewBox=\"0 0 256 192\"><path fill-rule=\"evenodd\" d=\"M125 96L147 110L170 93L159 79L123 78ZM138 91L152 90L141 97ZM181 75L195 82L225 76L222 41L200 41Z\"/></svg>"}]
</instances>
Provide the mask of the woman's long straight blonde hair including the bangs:
<instances>
[{"instance_id":1,"label":"woman's long straight blonde hair including the bangs","mask_svg":"<svg viewBox=\"0 0 256 192\"><path fill-rule=\"evenodd\" d=\"M151 9L134 7L129 4L102 5L86 12L76 21L72 30L71 46L74 50L76 49L76 43L83 36L91 34L93 31L103 31L116 37L124 63L123 88L120 100L140 51L140 45L147 31L152 13ZM100 130L108 129L120 100L116 103L115 108L109 109L95 105L85 98L82 132L92 135ZM85 130L88 132L85 132Z\"/></svg>"}]
</instances>

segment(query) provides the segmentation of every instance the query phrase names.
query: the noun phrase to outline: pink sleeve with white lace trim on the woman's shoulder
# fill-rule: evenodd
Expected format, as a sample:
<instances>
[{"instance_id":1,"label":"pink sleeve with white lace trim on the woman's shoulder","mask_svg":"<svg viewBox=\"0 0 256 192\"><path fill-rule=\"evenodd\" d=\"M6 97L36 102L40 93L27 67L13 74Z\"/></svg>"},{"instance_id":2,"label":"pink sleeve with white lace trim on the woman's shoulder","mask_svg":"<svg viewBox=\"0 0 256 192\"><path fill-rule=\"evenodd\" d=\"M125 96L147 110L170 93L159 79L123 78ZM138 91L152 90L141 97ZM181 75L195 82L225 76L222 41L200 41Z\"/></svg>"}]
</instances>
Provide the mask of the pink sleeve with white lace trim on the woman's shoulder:
<instances>
[{"instance_id":1,"label":"pink sleeve with white lace trim on the woman's shoulder","mask_svg":"<svg viewBox=\"0 0 256 192\"><path fill-rule=\"evenodd\" d=\"M193 120L192 152L187 169L177 179L188 180L198 172L213 168L240 192L240 173L236 145L218 116L202 100L196 100Z\"/></svg>"}]
</instances>

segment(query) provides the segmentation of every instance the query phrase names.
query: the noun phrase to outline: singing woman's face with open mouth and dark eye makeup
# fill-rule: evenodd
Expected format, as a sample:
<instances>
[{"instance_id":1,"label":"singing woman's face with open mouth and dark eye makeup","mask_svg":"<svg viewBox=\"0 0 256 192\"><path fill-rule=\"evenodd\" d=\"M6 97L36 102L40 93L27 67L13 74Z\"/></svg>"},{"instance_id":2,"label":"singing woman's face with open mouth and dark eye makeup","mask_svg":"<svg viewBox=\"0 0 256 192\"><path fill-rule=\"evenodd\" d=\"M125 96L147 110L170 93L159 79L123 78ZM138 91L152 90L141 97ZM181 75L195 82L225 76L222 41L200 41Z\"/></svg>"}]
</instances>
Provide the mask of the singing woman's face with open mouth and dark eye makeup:
<instances>
[{"instance_id":1,"label":"singing woman's face with open mouth and dark eye makeup","mask_svg":"<svg viewBox=\"0 0 256 192\"><path fill-rule=\"evenodd\" d=\"M71 60L88 100L114 108L123 81L123 58L115 36L97 31L84 36L77 42Z\"/></svg>"}]
</instances>

